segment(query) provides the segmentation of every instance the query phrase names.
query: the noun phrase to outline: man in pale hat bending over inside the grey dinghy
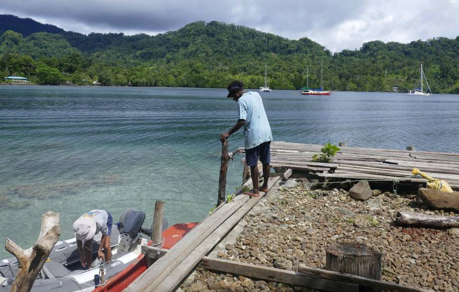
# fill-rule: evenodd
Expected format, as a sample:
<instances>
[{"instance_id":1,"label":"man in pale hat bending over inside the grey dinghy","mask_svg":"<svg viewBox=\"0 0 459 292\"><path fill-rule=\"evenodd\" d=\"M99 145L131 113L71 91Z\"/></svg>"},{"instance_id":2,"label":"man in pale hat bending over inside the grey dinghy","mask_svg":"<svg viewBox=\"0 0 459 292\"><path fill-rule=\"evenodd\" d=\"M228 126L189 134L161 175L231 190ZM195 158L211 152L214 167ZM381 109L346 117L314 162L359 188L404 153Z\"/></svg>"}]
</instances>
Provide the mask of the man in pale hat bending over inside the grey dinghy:
<instances>
[{"instance_id":1,"label":"man in pale hat bending over inside the grey dinghy","mask_svg":"<svg viewBox=\"0 0 459 292\"><path fill-rule=\"evenodd\" d=\"M112 224L112 214L106 210L91 210L81 215L73 223L80 262L84 269L89 268L92 263L92 239L99 232L102 233L102 238L100 239L97 257L106 261L111 260L110 235L112 234ZM102 249L105 250L105 254Z\"/></svg>"}]
</instances>

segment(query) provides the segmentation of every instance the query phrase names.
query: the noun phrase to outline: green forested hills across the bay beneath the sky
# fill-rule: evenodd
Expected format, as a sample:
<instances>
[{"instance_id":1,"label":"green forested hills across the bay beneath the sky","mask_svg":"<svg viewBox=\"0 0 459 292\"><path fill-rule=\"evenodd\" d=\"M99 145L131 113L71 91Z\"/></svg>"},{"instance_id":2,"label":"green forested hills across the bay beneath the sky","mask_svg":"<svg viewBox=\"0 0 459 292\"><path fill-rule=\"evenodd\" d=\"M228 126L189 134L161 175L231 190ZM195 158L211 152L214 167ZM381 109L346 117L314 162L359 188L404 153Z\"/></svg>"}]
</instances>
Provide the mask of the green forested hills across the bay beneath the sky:
<instances>
[{"instance_id":1,"label":"green forested hills across the bay beneath the sky","mask_svg":"<svg viewBox=\"0 0 459 292\"><path fill-rule=\"evenodd\" d=\"M5 17L15 16L0 15L0 75L43 84L226 87L241 79L247 88L258 88L267 63L271 88L297 89L305 84L308 66L309 84L319 86L322 60L325 89L391 91L417 86L422 62L433 92L459 93L459 37L372 41L332 55L306 37L289 40L217 21L125 36L66 32L29 18L5 25Z\"/></svg>"}]
</instances>

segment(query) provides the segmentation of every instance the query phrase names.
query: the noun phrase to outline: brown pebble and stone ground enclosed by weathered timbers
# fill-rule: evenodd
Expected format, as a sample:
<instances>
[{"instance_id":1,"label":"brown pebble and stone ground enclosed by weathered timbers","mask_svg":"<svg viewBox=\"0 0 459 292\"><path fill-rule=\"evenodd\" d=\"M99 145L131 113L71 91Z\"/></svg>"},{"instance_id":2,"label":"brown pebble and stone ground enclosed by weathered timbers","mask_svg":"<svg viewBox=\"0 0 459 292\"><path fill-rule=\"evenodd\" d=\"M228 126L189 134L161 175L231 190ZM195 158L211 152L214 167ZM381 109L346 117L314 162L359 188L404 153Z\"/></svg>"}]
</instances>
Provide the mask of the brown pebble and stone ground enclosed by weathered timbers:
<instances>
[{"instance_id":1,"label":"brown pebble and stone ground enclosed by weathered timbers","mask_svg":"<svg viewBox=\"0 0 459 292\"><path fill-rule=\"evenodd\" d=\"M422 210L413 195L408 199L373 190L367 201L354 201L344 189L310 186L289 180L274 187L211 256L296 271L300 263L323 268L327 247L356 241L382 253L382 280L436 291L459 290L459 229L393 225L398 211L454 213ZM202 268L182 290L313 291Z\"/></svg>"}]
</instances>

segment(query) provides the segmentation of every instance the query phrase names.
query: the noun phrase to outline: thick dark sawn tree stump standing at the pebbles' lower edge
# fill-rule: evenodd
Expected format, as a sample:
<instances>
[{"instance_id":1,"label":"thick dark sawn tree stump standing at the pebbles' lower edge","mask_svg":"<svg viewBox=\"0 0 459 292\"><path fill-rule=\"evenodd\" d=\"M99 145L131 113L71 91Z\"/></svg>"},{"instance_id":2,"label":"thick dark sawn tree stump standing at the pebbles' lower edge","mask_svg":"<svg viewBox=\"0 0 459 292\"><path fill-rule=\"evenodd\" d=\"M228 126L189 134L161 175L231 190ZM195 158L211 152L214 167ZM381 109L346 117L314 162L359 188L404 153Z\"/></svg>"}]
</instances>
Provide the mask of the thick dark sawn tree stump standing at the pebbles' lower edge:
<instances>
[{"instance_id":1,"label":"thick dark sawn tree stump standing at the pebbles' lower edge","mask_svg":"<svg viewBox=\"0 0 459 292\"><path fill-rule=\"evenodd\" d=\"M364 245L342 243L326 249L325 270L380 280L382 256Z\"/></svg>"}]
</instances>

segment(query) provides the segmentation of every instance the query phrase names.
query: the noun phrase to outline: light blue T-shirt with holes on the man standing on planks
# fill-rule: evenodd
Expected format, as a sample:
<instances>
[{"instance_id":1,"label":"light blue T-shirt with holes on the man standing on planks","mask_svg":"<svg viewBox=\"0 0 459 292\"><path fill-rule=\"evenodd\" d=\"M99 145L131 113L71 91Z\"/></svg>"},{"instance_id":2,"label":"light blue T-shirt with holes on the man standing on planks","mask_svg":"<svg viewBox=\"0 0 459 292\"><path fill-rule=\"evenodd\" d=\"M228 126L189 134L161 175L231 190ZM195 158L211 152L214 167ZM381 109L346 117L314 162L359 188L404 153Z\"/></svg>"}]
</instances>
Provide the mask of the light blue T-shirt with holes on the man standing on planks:
<instances>
[{"instance_id":1,"label":"light blue T-shirt with holes on the man standing on planks","mask_svg":"<svg viewBox=\"0 0 459 292\"><path fill-rule=\"evenodd\" d=\"M242 94L238 100L238 111L239 119L245 119L244 148L250 149L263 142L272 141L271 127L258 92Z\"/></svg>"}]
</instances>

